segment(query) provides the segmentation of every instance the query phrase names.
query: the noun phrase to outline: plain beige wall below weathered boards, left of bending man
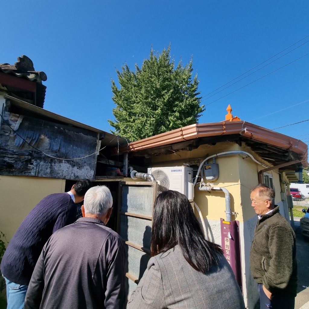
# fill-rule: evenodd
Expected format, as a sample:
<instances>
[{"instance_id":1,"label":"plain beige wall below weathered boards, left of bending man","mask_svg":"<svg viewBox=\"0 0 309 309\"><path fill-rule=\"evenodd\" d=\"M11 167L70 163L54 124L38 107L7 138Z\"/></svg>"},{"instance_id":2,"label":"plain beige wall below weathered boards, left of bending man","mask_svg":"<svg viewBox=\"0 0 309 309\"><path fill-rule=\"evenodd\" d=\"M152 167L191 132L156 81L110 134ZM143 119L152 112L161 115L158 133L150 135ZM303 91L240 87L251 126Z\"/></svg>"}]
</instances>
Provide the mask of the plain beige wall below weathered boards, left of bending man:
<instances>
[{"instance_id":1,"label":"plain beige wall below weathered boards, left of bending man","mask_svg":"<svg viewBox=\"0 0 309 309\"><path fill-rule=\"evenodd\" d=\"M0 175L0 230L10 241L20 223L43 198L51 193L64 192L65 180Z\"/></svg>"}]
</instances>

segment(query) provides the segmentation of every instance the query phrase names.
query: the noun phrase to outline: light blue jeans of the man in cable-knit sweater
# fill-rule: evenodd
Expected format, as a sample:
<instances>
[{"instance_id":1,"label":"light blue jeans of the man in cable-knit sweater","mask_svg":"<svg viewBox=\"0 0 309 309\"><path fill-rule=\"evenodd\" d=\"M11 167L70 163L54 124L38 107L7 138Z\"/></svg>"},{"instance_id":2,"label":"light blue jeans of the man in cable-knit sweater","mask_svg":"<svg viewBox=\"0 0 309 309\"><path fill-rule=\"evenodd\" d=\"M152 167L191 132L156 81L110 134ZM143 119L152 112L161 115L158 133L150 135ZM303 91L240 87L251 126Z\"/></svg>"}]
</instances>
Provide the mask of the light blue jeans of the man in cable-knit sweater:
<instances>
[{"instance_id":1,"label":"light blue jeans of the man in cable-knit sweater","mask_svg":"<svg viewBox=\"0 0 309 309\"><path fill-rule=\"evenodd\" d=\"M6 282L7 309L23 309L28 286L14 283L6 277L4 279Z\"/></svg>"}]
</instances>

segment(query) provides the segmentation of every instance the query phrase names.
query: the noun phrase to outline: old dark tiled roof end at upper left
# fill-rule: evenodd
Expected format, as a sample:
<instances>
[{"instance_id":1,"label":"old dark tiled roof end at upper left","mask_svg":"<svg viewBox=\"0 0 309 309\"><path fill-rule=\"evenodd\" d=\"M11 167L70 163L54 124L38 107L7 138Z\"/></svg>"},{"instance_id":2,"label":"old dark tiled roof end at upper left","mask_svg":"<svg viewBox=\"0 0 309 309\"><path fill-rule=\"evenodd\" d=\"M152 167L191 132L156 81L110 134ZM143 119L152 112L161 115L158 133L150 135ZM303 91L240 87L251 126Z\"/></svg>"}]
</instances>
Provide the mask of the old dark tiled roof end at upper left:
<instances>
[{"instance_id":1,"label":"old dark tiled roof end at upper left","mask_svg":"<svg viewBox=\"0 0 309 309\"><path fill-rule=\"evenodd\" d=\"M27 79L31 82L36 83L36 106L43 108L46 86L42 82L47 80L47 76L42 71L36 71L33 67L31 59L25 55L17 58L17 62L14 65L8 63L0 64L0 72L17 76L19 78ZM14 93L15 91L10 87L7 87L9 92ZM27 98L26 93L18 93L19 96Z\"/></svg>"}]
</instances>

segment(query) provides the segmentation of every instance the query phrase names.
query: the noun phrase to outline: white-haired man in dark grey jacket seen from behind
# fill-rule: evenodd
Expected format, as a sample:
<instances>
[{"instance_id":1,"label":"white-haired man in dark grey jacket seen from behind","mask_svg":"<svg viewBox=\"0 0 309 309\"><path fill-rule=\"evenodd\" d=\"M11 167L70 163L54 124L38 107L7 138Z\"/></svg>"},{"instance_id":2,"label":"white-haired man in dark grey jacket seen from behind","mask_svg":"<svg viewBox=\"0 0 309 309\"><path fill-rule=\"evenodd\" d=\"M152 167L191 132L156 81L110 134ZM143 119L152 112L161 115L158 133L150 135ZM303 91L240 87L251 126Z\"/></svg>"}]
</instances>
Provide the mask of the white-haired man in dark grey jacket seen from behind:
<instances>
[{"instance_id":1,"label":"white-haired man in dark grey jacket seen from behind","mask_svg":"<svg viewBox=\"0 0 309 309\"><path fill-rule=\"evenodd\" d=\"M125 307L125 249L106 226L112 195L106 186L90 188L83 218L55 232L32 274L25 309Z\"/></svg>"}]
</instances>

